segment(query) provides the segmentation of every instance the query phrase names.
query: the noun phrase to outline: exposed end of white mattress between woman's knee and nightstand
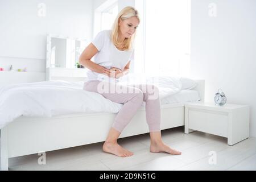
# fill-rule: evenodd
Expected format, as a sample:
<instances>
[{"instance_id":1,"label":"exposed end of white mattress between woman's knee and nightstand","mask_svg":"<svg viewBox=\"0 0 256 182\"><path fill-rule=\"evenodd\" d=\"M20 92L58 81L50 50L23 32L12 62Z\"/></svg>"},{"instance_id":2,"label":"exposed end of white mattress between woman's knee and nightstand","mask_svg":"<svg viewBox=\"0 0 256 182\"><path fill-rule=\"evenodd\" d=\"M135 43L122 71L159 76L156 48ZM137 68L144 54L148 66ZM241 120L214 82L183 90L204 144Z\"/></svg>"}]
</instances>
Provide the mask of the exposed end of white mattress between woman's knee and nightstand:
<instances>
[{"instance_id":1,"label":"exposed end of white mattress between woman's knee and nightstand","mask_svg":"<svg viewBox=\"0 0 256 182\"><path fill-rule=\"evenodd\" d=\"M161 105L163 104L175 104L175 103L187 103L200 101L199 92L196 90L180 90L180 92L163 98L160 100Z\"/></svg>"}]
</instances>

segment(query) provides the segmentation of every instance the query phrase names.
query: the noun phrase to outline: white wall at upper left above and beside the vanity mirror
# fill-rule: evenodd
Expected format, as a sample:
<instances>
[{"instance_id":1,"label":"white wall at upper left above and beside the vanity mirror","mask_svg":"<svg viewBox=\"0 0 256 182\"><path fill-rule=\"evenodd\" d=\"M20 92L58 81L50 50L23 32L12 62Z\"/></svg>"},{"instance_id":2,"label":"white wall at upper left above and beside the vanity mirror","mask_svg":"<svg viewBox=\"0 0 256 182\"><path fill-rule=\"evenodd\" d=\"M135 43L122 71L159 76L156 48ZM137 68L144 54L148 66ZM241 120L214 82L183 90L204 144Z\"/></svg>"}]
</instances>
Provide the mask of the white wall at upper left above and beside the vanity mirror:
<instances>
[{"instance_id":1,"label":"white wall at upper left above and beside the vanity mirror","mask_svg":"<svg viewBox=\"0 0 256 182\"><path fill-rule=\"evenodd\" d=\"M45 72L47 34L92 39L93 0L0 0L0 22L0 67Z\"/></svg>"}]
</instances>

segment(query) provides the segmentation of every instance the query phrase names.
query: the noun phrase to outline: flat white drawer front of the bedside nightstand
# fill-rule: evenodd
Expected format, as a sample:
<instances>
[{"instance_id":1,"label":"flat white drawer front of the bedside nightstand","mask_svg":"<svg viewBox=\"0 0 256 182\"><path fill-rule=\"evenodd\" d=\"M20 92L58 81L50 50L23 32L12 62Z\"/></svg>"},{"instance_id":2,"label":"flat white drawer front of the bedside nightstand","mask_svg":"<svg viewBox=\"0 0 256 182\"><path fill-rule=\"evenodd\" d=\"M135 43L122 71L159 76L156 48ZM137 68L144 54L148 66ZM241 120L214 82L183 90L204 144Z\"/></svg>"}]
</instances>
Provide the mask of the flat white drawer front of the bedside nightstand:
<instances>
[{"instance_id":1,"label":"flat white drawer front of the bedside nightstand","mask_svg":"<svg viewBox=\"0 0 256 182\"><path fill-rule=\"evenodd\" d=\"M188 121L189 129L228 137L228 113L190 108Z\"/></svg>"}]
</instances>

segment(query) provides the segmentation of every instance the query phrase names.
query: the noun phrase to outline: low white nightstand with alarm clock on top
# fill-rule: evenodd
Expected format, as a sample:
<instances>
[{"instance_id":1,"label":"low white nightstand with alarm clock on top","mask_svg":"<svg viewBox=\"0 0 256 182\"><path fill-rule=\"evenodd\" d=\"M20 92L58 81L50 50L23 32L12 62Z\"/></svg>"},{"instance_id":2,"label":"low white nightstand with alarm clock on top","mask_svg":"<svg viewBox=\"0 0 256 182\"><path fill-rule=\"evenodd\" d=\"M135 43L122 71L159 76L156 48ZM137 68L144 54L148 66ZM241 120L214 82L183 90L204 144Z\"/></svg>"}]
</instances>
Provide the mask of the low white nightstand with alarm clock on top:
<instances>
[{"instance_id":1,"label":"low white nightstand with alarm clock on top","mask_svg":"<svg viewBox=\"0 0 256 182\"><path fill-rule=\"evenodd\" d=\"M247 105L197 102L185 104L185 134L193 130L228 138L232 146L249 138L250 108Z\"/></svg>"}]
</instances>

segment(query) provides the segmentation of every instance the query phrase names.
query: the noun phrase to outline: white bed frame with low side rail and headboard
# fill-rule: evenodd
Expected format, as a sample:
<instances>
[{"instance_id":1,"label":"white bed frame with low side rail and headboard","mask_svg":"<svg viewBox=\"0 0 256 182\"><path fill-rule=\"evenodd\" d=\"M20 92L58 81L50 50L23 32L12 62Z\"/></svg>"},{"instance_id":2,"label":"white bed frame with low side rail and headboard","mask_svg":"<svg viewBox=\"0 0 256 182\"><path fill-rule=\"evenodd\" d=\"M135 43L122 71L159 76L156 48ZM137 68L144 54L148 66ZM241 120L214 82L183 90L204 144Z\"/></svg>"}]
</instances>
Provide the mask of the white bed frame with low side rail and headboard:
<instances>
[{"instance_id":1,"label":"white bed frame with low side rail and headboard","mask_svg":"<svg viewBox=\"0 0 256 182\"><path fill-rule=\"evenodd\" d=\"M201 102L204 80L196 80ZM1 169L8 170L9 158L102 142L115 113L81 113L52 118L20 117L1 129ZM161 105L161 129L184 126L184 104ZM119 138L148 133L142 106Z\"/></svg>"}]
</instances>

